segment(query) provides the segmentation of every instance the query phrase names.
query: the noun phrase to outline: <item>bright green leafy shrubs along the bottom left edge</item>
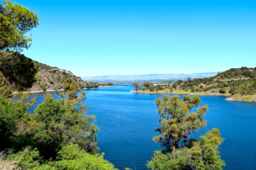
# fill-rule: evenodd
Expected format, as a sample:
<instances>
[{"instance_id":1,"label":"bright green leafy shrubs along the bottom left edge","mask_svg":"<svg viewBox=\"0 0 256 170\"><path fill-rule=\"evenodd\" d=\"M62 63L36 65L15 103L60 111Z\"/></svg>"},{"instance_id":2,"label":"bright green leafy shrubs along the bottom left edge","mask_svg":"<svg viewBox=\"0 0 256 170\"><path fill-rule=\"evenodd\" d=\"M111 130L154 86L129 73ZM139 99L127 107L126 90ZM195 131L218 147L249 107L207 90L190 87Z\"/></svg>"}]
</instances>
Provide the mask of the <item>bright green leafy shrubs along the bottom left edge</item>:
<instances>
[{"instance_id":1,"label":"bright green leafy shrubs along the bottom left edge","mask_svg":"<svg viewBox=\"0 0 256 170\"><path fill-rule=\"evenodd\" d=\"M21 169L115 169L114 165L104 160L103 154L88 154L80 150L78 145L65 145L57 153L55 161L44 162L39 151L35 148L25 148L7 157ZM14 169L14 168L13 168Z\"/></svg>"}]
</instances>

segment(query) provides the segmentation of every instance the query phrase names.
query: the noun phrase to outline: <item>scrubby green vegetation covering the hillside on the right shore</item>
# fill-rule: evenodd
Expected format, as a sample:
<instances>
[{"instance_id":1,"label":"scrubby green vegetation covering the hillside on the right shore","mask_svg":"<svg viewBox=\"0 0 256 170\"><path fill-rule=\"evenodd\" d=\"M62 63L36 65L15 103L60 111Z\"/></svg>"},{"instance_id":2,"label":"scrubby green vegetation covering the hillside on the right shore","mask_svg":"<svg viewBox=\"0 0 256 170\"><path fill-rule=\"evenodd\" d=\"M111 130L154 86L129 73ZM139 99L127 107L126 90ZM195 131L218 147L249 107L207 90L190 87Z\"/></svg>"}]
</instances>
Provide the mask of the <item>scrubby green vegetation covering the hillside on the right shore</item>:
<instances>
[{"instance_id":1,"label":"scrubby green vegetation covering the hillside on the right shore","mask_svg":"<svg viewBox=\"0 0 256 170\"><path fill-rule=\"evenodd\" d=\"M211 78L187 80L177 87L192 92L211 92L231 95L255 95L256 69L242 67L218 73ZM174 88L175 89L175 88Z\"/></svg>"}]
</instances>

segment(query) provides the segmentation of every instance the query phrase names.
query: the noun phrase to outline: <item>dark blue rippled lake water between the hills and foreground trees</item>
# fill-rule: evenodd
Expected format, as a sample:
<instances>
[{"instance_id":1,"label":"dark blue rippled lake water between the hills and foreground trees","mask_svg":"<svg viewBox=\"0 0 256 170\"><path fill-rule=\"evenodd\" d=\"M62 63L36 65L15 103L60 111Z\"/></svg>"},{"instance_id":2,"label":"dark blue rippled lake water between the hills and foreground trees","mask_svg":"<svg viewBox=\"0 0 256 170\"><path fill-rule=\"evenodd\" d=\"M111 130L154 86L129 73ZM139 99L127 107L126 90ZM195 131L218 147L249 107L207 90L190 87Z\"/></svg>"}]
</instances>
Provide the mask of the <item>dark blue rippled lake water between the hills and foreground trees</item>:
<instances>
[{"instance_id":1,"label":"dark blue rippled lake water between the hills and foreground trees","mask_svg":"<svg viewBox=\"0 0 256 170\"><path fill-rule=\"evenodd\" d=\"M155 99L163 95L135 94L132 85L118 85L86 90L88 114L96 115L98 146L104 158L115 167L147 169L147 160L159 145L152 141L157 135L158 112ZM37 96L38 103L43 94ZM212 128L221 131L220 146L224 169L256 169L256 104L225 101L225 97L200 96L207 104L207 127L195 134L205 134Z\"/></svg>"}]
</instances>

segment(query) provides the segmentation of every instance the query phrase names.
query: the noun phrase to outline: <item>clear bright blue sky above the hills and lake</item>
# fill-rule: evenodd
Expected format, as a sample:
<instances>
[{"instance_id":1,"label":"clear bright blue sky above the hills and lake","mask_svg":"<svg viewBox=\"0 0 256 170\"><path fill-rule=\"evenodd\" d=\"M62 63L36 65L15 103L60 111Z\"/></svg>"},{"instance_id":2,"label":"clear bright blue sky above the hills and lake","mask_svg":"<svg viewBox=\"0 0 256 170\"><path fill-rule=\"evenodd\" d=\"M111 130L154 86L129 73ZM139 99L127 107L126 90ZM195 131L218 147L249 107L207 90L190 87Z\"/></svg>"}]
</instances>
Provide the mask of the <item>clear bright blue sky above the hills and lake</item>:
<instances>
[{"instance_id":1,"label":"clear bright blue sky above the hills and lake","mask_svg":"<svg viewBox=\"0 0 256 170\"><path fill-rule=\"evenodd\" d=\"M35 11L36 61L78 76L256 66L256 1L16 0Z\"/></svg>"}]
</instances>

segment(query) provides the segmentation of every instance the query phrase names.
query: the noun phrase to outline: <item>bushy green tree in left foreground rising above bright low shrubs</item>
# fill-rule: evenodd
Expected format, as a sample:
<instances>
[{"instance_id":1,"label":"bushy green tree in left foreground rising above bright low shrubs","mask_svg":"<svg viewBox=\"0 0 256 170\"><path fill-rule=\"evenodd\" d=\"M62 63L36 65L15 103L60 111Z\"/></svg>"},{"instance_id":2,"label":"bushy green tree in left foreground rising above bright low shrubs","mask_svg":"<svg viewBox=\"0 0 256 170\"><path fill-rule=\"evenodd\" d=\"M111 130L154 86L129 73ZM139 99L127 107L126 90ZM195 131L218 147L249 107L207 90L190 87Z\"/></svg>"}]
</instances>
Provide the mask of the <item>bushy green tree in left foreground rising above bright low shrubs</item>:
<instances>
[{"instance_id":1,"label":"bushy green tree in left foreground rising above bright low shrubs","mask_svg":"<svg viewBox=\"0 0 256 170\"><path fill-rule=\"evenodd\" d=\"M80 148L96 153L98 148L94 116L86 115L85 92L80 92L74 80L65 80L62 100L53 100L47 94L45 100L35 109L35 120L39 128L34 138L40 153L49 158L56 155L62 145L77 143Z\"/></svg>"}]
</instances>

